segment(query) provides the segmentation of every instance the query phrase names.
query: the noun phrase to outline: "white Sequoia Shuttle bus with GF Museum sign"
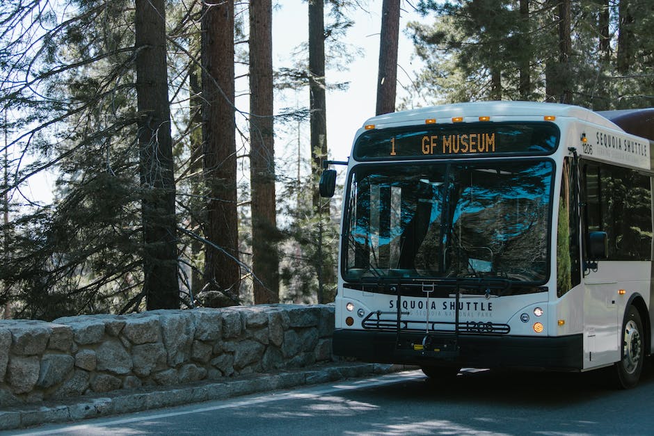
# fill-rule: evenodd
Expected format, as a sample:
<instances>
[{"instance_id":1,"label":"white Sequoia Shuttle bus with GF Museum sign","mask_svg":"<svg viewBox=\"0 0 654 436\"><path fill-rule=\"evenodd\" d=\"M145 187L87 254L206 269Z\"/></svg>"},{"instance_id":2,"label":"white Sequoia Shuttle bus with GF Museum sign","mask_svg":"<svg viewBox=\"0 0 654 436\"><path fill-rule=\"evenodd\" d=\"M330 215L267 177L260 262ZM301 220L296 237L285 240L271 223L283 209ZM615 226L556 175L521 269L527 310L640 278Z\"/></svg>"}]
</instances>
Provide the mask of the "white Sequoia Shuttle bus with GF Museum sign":
<instances>
[{"instance_id":1,"label":"white Sequoia Shuttle bus with GF Museum sign","mask_svg":"<svg viewBox=\"0 0 654 436\"><path fill-rule=\"evenodd\" d=\"M346 162L334 353L432 378L614 366L635 386L653 350L653 129L654 109L533 102L367 120Z\"/></svg>"}]
</instances>

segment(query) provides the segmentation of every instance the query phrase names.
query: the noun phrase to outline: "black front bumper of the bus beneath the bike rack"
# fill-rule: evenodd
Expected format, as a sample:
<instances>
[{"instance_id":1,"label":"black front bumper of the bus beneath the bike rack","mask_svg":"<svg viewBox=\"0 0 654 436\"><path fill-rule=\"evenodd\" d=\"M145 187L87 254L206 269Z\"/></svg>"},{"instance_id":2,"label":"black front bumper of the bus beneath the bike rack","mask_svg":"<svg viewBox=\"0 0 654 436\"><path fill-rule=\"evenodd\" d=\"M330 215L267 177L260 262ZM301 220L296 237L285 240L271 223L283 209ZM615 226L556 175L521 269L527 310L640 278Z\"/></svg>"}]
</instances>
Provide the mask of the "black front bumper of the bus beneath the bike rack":
<instances>
[{"instance_id":1,"label":"black front bumper of the bus beneath the bike rack","mask_svg":"<svg viewBox=\"0 0 654 436\"><path fill-rule=\"evenodd\" d=\"M583 368L583 336L520 337L484 334L430 334L337 329L335 355L366 362L443 365L468 368L534 368L579 371ZM420 349L422 348L422 349ZM437 350L437 351L434 351Z\"/></svg>"}]
</instances>

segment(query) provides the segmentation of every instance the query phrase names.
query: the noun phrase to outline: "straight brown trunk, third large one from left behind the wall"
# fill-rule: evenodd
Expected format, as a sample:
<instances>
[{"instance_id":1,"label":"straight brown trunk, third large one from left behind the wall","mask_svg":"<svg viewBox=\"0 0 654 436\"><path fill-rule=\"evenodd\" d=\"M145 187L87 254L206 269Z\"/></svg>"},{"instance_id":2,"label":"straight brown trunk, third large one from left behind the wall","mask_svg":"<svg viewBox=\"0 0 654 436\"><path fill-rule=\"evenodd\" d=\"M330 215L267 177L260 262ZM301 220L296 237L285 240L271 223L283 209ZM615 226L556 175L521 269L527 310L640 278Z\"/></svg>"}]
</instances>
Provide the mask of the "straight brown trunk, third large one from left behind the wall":
<instances>
[{"instance_id":1,"label":"straight brown trunk, third large one from left behind the wall","mask_svg":"<svg viewBox=\"0 0 654 436\"><path fill-rule=\"evenodd\" d=\"M279 302L271 0L250 0L250 186L255 304Z\"/></svg>"}]
</instances>

